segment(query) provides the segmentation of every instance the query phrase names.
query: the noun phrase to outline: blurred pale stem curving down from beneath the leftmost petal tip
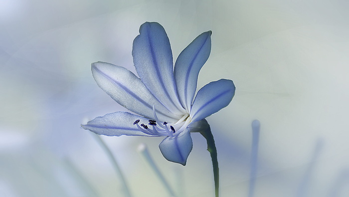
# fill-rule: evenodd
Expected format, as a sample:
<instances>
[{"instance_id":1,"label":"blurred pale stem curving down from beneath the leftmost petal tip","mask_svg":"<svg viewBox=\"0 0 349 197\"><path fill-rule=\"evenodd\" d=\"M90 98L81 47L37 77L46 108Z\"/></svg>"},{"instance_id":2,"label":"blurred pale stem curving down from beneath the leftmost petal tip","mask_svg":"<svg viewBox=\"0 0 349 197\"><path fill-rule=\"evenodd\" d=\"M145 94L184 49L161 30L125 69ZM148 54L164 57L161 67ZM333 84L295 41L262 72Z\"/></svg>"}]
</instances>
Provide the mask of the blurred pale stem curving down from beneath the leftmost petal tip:
<instances>
[{"instance_id":1,"label":"blurred pale stem curving down from beneath the leftmost petal tip","mask_svg":"<svg viewBox=\"0 0 349 197\"><path fill-rule=\"evenodd\" d=\"M123 185L124 188L124 192L125 192L125 196L126 197L131 197L131 192L129 190L129 187L126 184L126 180L125 177L120 169L120 166L118 164L118 162L116 161L116 158L114 157L113 153L110 151L110 149L108 148L108 146L104 143L104 141L102 140L102 138L99 135L93 135L96 139L96 141L100 144L100 146L102 147L102 149L104 150L104 152L107 154L110 162L112 163L115 171L117 172L117 174L119 175L120 181Z\"/></svg>"}]
</instances>

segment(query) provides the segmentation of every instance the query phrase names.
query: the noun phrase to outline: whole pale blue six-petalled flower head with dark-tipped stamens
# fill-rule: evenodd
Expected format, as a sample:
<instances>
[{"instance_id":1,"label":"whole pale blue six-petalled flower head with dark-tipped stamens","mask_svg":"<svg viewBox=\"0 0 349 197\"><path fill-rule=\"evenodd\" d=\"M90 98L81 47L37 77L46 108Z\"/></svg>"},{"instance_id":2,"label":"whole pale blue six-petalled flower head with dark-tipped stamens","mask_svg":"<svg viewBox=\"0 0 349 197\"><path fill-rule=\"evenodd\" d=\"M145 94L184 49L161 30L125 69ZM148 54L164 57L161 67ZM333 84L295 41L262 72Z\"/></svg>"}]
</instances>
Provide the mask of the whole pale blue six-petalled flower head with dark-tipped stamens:
<instances>
[{"instance_id":1,"label":"whole pale blue six-petalled flower head with dark-tipped stamens","mask_svg":"<svg viewBox=\"0 0 349 197\"><path fill-rule=\"evenodd\" d=\"M186 164L191 132L209 128L204 119L226 107L235 93L233 81L220 79L203 86L194 99L198 73L211 51L211 31L197 36L173 66L169 38L157 22L145 22L133 42L133 61L140 78L124 67L92 63L98 86L128 112L97 117L82 125L106 136L164 136L163 156Z\"/></svg>"}]
</instances>

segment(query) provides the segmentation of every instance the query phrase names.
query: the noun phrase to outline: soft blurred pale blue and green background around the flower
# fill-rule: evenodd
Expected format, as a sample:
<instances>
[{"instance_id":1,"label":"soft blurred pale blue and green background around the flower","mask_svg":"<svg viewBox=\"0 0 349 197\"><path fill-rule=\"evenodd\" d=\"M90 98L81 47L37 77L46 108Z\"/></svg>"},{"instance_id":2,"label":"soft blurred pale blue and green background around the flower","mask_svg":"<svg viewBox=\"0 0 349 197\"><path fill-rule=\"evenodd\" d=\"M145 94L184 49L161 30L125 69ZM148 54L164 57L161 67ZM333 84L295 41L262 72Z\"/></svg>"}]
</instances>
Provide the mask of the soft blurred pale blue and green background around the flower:
<instances>
[{"instance_id":1,"label":"soft blurred pale blue and green background around the flower","mask_svg":"<svg viewBox=\"0 0 349 197\"><path fill-rule=\"evenodd\" d=\"M349 196L349 2L346 0L0 0L0 196L124 197L122 182L80 124L126 111L90 64L135 72L133 39L158 21L174 59L212 30L198 88L232 79L230 105L207 118L221 197L247 197L251 122L261 122L255 197ZM185 167L162 138L102 137L134 197L168 197L149 152L178 197L212 197L206 144L192 134Z\"/></svg>"}]
</instances>

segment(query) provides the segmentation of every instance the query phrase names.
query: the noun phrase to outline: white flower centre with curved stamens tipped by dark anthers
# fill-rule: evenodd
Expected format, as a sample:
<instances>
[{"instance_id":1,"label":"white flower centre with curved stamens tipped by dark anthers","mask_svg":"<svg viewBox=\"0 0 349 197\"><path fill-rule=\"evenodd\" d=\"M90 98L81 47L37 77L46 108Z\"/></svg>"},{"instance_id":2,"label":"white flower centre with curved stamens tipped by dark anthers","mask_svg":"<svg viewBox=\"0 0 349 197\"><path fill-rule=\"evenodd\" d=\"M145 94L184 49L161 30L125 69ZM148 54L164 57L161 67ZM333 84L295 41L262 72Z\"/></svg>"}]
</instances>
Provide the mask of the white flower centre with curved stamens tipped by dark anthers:
<instances>
[{"instance_id":1,"label":"white flower centre with curved stamens tipped by dark anthers","mask_svg":"<svg viewBox=\"0 0 349 197\"><path fill-rule=\"evenodd\" d=\"M155 120L149 120L149 123L140 123L140 120L136 120L133 125L145 134L155 136L176 136L191 122L189 114L184 114L176 123L160 122L156 115L155 107L153 106L153 113Z\"/></svg>"}]
</instances>

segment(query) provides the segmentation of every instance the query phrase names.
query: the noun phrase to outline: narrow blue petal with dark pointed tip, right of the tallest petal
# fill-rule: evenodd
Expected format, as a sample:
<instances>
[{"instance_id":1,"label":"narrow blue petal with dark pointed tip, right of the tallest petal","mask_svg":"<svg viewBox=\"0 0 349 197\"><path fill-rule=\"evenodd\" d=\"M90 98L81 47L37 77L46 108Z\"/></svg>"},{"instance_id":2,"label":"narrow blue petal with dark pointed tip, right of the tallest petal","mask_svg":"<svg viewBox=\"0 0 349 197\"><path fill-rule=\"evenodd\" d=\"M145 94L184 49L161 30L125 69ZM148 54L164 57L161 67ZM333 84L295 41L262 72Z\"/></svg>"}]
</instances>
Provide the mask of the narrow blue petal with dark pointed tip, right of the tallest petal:
<instances>
[{"instance_id":1,"label":"narrow blue petal with dark pointed tip, right of the tallest petal","mask_svg":"<svg viewBox=\"0 0 349 197\"><path fill-rule=\"evenodd\" d=\"M211 31L207 31L197 36L179 54L174 64L174 79L179 100L188 110L195 95L197 76L211 52L211 34Z\"/></svg>"}]
</instances>

